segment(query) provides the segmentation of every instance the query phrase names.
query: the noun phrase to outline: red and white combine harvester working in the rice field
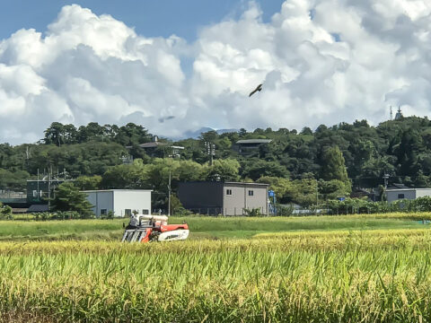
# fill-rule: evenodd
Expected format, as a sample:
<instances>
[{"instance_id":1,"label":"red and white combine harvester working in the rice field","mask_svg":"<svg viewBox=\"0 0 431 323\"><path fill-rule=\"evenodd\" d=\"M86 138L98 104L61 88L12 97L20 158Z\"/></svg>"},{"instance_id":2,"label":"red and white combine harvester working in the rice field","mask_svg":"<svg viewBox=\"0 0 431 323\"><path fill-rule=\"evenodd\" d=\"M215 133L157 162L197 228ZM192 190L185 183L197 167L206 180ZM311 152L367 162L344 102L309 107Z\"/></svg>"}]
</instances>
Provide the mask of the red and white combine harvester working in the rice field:
<instances>
[{"instance_id":1,"label":"red and white combine harvester working in the rice field","mask_svg":"<svg viewBox=\"0 0 431 323\"><path fill-rule=\"evenodd\" d=\"M186 240L188 237L187 223L168 224L165 215L136 214L130 217L121 242L174 241Z\"/></svg>"}]
</instances>

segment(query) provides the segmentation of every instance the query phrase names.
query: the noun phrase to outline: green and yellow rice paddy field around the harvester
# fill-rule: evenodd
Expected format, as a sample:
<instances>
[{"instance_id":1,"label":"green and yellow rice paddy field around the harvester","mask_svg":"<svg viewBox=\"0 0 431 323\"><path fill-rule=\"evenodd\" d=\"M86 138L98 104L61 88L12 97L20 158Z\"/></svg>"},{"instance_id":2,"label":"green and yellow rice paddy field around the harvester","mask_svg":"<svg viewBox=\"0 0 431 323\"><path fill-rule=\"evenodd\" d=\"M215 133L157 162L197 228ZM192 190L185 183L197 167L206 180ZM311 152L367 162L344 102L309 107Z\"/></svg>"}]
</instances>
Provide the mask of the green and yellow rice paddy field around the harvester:
<instances>
[{"instance_id":1,"label":"green and yellow rice paddy field around the harvester","mask_svg":"<svg viewBox=\"0 0 431 323\"><path fill-rule=\"evenodd\" d=\"M431 214L0 222L0 321L430 322Z\"/></svg>"}]
</instances>

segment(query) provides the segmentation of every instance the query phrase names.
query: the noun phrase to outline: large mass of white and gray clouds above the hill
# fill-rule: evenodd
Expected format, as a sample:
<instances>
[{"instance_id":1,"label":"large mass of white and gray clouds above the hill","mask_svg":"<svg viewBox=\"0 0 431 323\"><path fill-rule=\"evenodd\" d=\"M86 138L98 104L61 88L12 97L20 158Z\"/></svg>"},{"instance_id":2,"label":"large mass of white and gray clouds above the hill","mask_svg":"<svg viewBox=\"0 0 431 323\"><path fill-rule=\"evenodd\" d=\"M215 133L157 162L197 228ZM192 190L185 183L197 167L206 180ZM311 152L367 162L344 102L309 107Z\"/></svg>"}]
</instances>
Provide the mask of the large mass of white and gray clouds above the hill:
<instances>
[{"instance_id":1,"label":"large mass of white and gray clouds above the hill","mask_svg":"<svg viewBox=\"0 0 431 323\"><path fill-rule=\"evenodd\" d=\"M0 142L34 142L53 121L131 121L178 137L199 127L376 123L390 105L424 116L430 31L427 0L287 0L270 22L251 2L193 43L145 38L67 5L43 35L20 30L0 42Z\"/></svg>"}]
</instances>

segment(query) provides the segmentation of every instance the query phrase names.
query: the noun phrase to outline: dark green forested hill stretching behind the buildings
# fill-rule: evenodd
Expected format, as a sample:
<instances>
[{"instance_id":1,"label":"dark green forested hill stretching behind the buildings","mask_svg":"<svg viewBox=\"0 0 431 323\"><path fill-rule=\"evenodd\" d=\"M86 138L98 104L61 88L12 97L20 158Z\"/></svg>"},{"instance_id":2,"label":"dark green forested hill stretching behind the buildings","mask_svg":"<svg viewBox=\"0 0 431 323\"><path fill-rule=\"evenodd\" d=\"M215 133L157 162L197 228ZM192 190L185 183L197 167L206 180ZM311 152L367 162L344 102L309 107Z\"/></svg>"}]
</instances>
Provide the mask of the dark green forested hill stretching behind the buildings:
<instances>
[{"instance_id":1,"label":"dark green forested hill stretching behind the buildings","mask_svg":"<svg viewBox=\"0 0 431 323\"><path fill-rule=\"evenodd\" d=\"M377 127L370 127L365 120L353 124L341 123L333 127L320 126L314 131L304 127L301 131L280 128L256 129L247 132L218 135L210 131L199 139L187 139L172 144L185 149L180 159L172 162L189 161L193 165L207 167L207 172L198 179L223 174L223 167L236 168L233 176L224 179L258 180L262 177L282 179L323 179L344 181L343 158L348 179L354 187L372 188L383 183L383 174L390 174L390 182L404 183L418 188L427 187L431 174L431 124L427 118L400 118L386 121ZM35 178L52 167L69 176L100 175L109 178L112 166L122 163L121 156L128 153L141 164L161 162L149 157L138 146L150 142L152 134L144 127L128 124L100 126L90 123L85 127L53 123L37 144L11 146L0 145L0 188L22 189L25 180ZM241 139L267 138L250 156L243 157L233 150L233 144ZM167 139L160 139L169 143ZM205 142L216 146L215 165L210 168ZM132 148L127 149L126 146ZM330 149L332 147L332 149ZM338 148L337 148L338 147ZM158 148L156 157L166 155L165 147ZM224 161L224 162L222 162ZM139 162L139 161L138 161ZM169 162L167 162L169 163ZM180 162L181 163L181 162ZM215 167L218 165L219 169ZM118 166L126 167L127 165ZM131 167L131 166L130 166ZM192 171L192 170L190 170ZM344 171L345 173L345 171ZM112 175L112 174L111 174ZM222 176L223 177L223 176ZM179 180L189 179L188 177ZM101 185L107 187L143 185L115 183L104 179ZM152 185L154 187L154 184Z\"/></svg>"}]
</instances>

